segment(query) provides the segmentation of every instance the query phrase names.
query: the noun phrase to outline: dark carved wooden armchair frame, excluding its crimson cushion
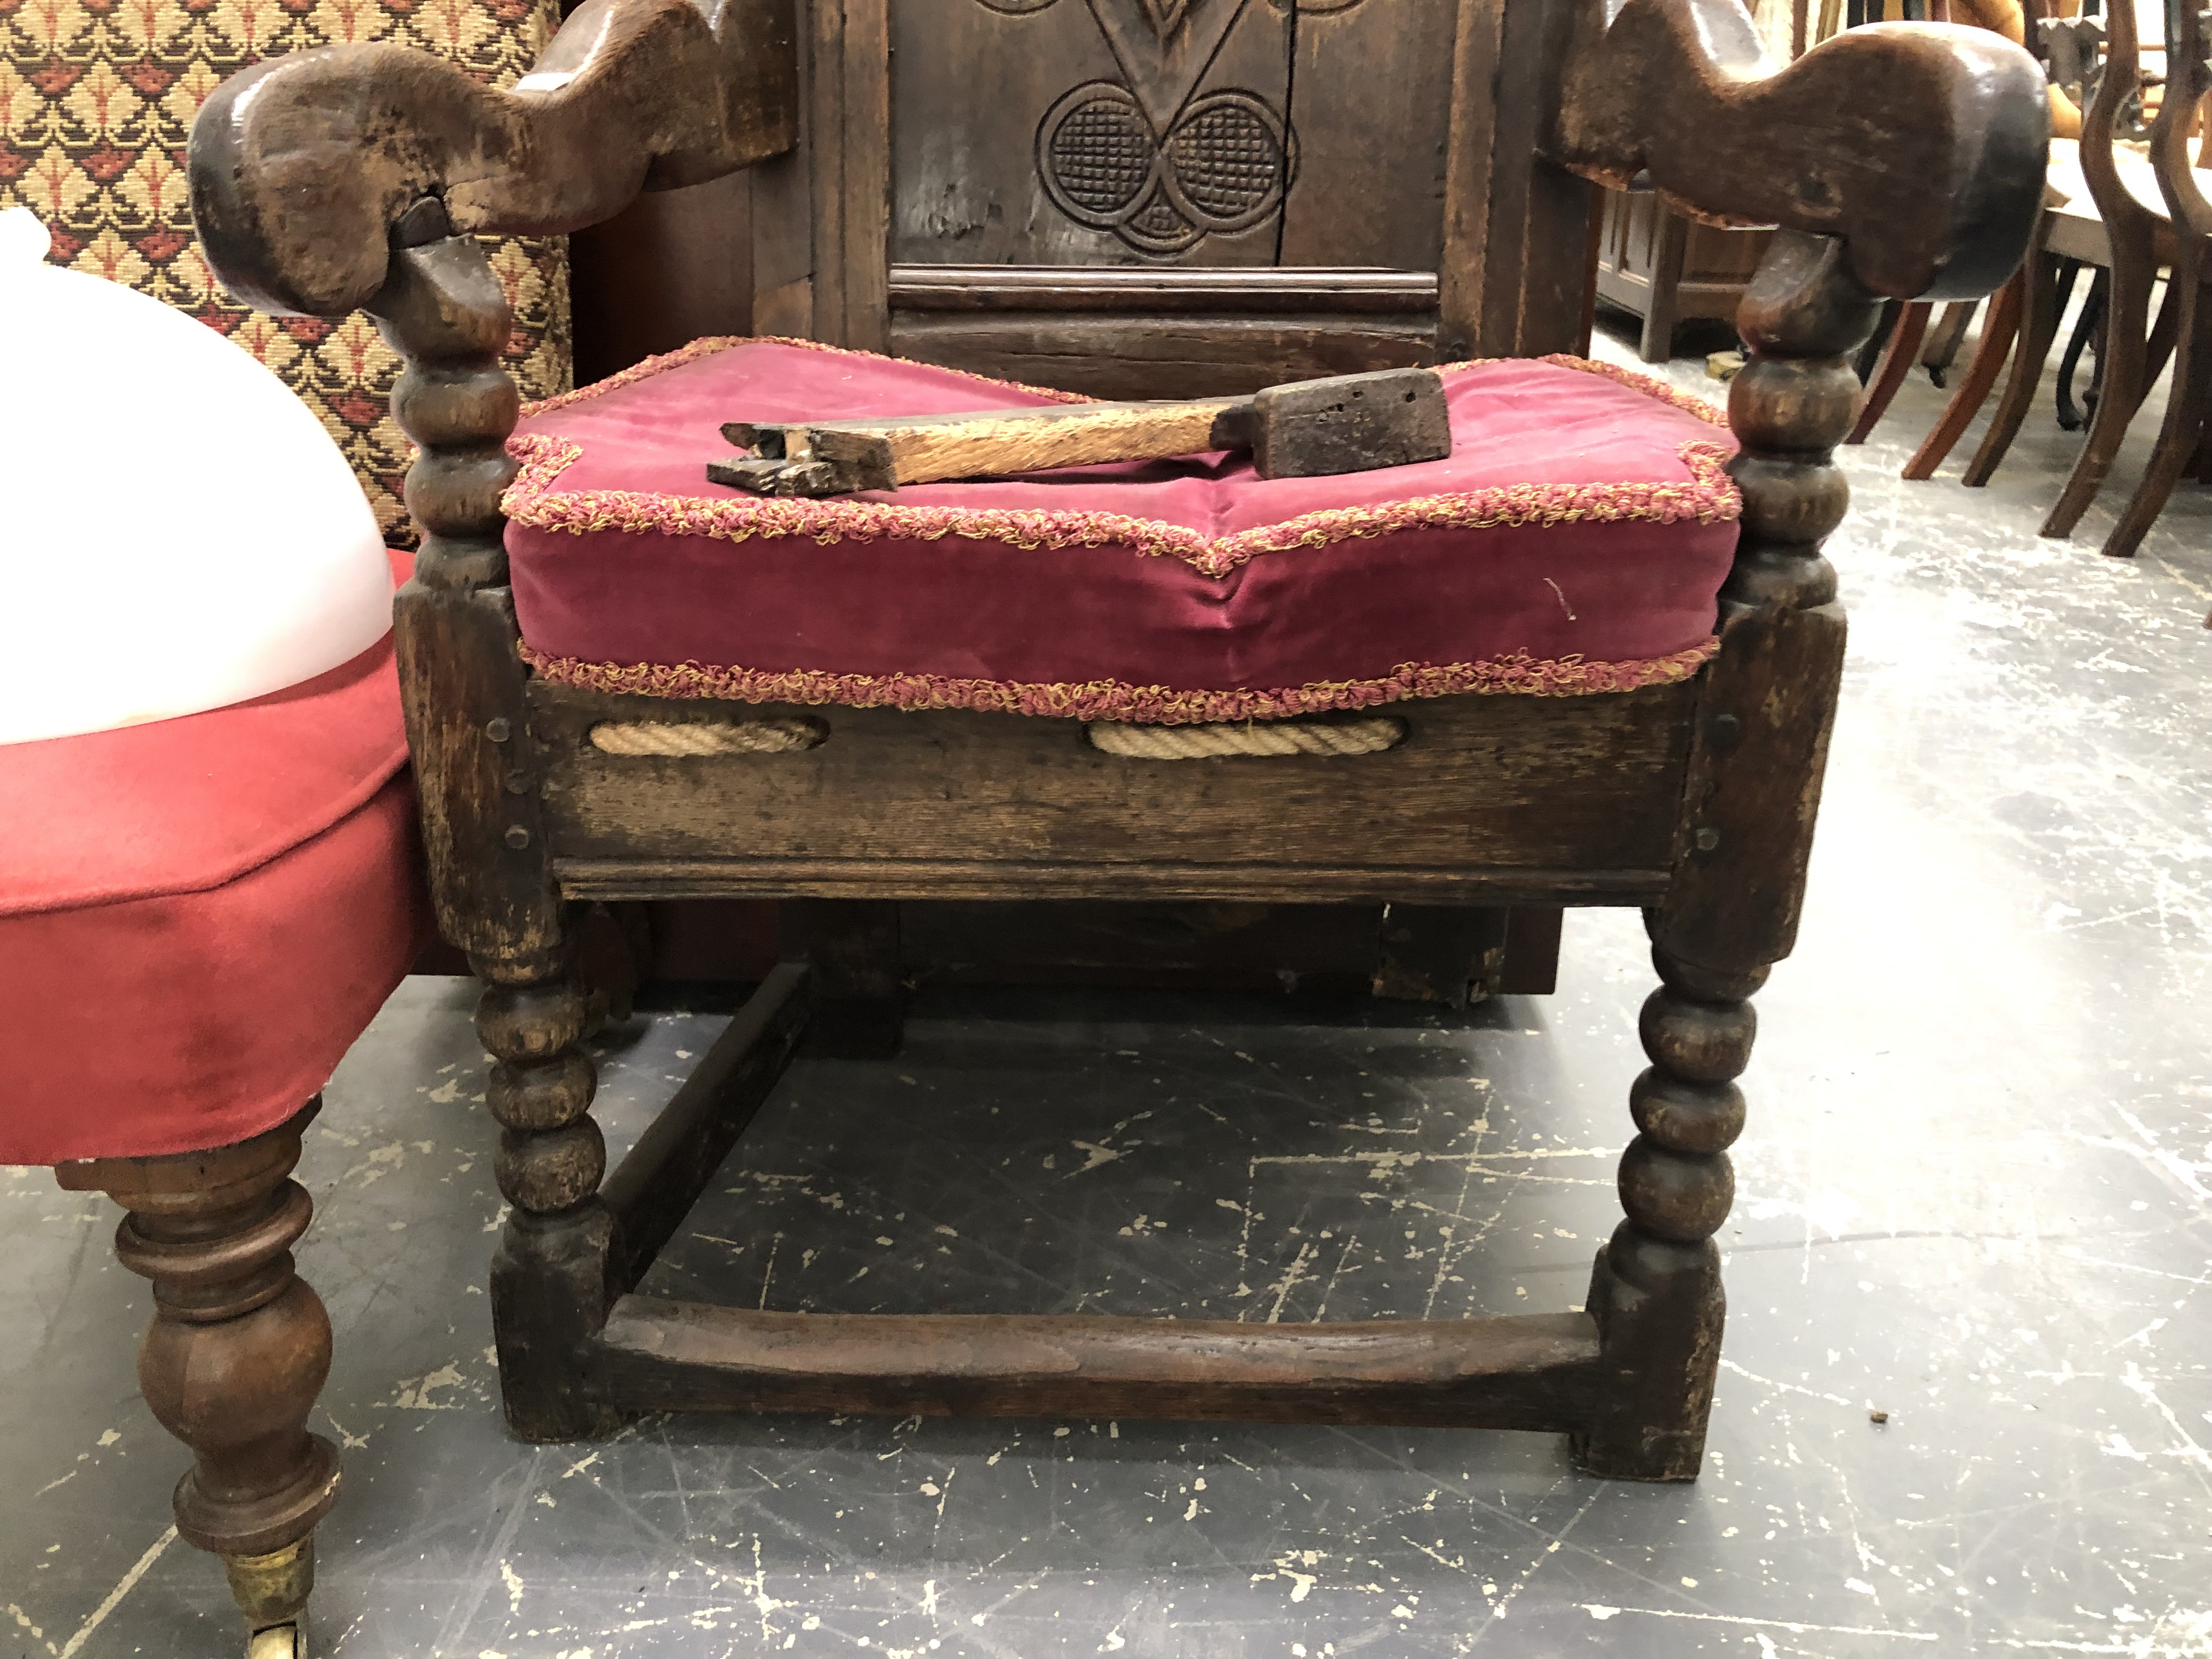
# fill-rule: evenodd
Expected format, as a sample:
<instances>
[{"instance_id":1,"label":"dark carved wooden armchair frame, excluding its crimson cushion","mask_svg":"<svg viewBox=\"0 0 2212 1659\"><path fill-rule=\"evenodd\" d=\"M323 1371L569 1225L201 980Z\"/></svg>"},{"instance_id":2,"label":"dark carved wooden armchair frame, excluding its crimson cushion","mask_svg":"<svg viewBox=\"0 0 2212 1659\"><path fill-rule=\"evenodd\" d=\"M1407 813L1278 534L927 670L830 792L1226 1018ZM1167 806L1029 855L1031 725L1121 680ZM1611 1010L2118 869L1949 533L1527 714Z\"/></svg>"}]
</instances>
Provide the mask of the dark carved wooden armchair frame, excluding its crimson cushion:
<instances>
[{"instance_id":1,"label":"dark carved wooden armchair frame, excluding its crimson cushion","mask_svg":"<svg viewBox=\"0 0 2212 1659\"><path fill-rule=\"evenodd\" d=\"M1310 55L1329 40L1365 42L1356 80ZM1199 58L1232 80L1192 71ZM1077 69L1093 80L1071 88ZM491 1301L515 1433L571 1440L659 1407L1374 1420L1566 1431L1597 1473L1697 1473L1734 1077L1750 998L1794 940L1840 670L1820 544L1845 511L1832 447L1858 394L1849 354L1885 296L1982 294L2011 274L2048 119L2033 60L1986 35L1867 31L1759 69L1734 0L1626 0L1610 18L1597 0L818 0L796 15L732 0L712 27L681 0L586 0L511 95L380 49L276 60L215 93L192 188L226 283L285 312L367 307L409 358L394 407L422 445L425 542L398 606L403 690L440 925L487 982L513 1203ZM973 100L978 84L993 97ZM1391 122L1371 119L1378 84L1402 88ZM1325 100L1354 95L1360 119L1329 128ZM1214 97L1221 122L1172 157L1188 173L1168 190L1159 146L1130 135L1183 133ZM1062 155L1071 111L1088 115ZM1217 131L1241 137L1208 148ZM796 159L770 161L801 135ZM1055 155L1057 181L1040 177ZM801 785L774 807L728 757L655 768L641 794L613 783L595 723L714 710L562 690L518 661L500 515L515 398L493 358L507 312L469 232L573 230L641 184L763 161L785 197L776 219L754 192L754 272L783 327L1097 394L1566 347L1590 179L1648 173L1688 210L1778 226L1739 314L1745 509L1719 655L1617 697L1400 703L1413 739L1363 757L1358 787L1332 783L1336 759L1281 761L1318 814L1303 841L1329 856L1234 834L1276 812L1274 761L1150 779L1166 807L1117 807L1110 849L1040 841L1033 810L1102 785L1068 723L1015 714L810 710L827 741L781 757ZM1020 212L993 215L1009 201ZM1480 787L1425 796L1422 754ZM927 823L856 847L852 827L918 781ZM1203 847L1188 821L1210 825ZM573 914L670 896L790 900L801 960L606 1175ZM929 898L1644 907L1652 1066L1630 1091L1626 1221L1588 1312L847 1318L635 1294L803 1037L896 1042L889 907Z\"/></svg>"}]
</instances>

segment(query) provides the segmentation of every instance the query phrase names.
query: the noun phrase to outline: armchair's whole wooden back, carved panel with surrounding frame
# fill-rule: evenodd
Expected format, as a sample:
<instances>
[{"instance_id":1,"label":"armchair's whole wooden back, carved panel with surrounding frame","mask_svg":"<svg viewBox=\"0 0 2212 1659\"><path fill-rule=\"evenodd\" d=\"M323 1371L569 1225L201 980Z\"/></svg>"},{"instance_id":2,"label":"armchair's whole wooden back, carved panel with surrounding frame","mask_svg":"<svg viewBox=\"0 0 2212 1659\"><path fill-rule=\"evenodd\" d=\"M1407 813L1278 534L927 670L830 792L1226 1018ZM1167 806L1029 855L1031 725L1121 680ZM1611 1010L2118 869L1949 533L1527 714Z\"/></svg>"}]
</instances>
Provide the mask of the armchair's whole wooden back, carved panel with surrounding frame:
<instances>
[{"instance_id":1,"label":"armchair's whole wooden back, carved panel with surrounding frame","mask_svg":"<svg viewBox=\"0 0 2212 1659\"><path fill-rule=\"evenodd\" d=\"M1571 347L1573 2L807 0L757 327L1104 396Z\"/></svg>"}]
</instances>

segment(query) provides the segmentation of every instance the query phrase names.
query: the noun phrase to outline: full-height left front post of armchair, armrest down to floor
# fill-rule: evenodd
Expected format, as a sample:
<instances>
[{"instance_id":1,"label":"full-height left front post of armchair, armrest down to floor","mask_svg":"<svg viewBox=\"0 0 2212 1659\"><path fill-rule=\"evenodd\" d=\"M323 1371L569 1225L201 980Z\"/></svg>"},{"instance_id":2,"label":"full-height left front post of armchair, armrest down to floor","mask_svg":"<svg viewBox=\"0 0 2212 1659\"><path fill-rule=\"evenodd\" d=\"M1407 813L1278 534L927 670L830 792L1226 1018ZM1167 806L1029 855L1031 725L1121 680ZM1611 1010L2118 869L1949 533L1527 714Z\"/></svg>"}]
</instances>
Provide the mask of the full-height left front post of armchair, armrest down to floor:
<instances>
[{"instance_id":1,"label":"full-height left front post of armchair, armrest down to floor","mask_svg":"<svg viewBox=\"0 0 2212 1659\"><path fill-rule=\"evenodd\" d=\"M367 305L407 361L392 414L420 445L407 511L422 529L396 602L400 697L422 794L438 929L484 982L476 1031L491 1051L493 1172L513 1206L491 1263L491 1321L507 1422L524 1440L604 1433L582 1354L606 1318L613 1223L599 1201L606 1146L591 1117L588 998L575 931L546 863L542 754L529 728L507 586L507 456L520 403L500 369L507 292L445 206L394 228Z\"/></svg>"}]
</instances>

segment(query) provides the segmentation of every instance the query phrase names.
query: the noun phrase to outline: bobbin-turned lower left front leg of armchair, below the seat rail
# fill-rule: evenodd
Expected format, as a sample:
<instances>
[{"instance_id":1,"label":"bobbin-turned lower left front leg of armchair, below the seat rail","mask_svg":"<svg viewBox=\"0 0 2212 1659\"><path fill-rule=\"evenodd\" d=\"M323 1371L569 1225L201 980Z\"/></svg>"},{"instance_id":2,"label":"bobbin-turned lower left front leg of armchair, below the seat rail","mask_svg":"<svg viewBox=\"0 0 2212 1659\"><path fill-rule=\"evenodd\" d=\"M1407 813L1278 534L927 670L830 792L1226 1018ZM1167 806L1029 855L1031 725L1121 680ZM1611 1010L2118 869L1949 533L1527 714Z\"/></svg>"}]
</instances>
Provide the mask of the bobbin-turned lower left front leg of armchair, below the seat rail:
<instances>
[{"instance_id":1,"label":"bobbin-turned lower left front leg of armchair, below the seat rail","mask_svg":"<svg viewBox=\"0 0 2212 1659\"><path fill-rule=\"evenodd\" d=\"M471 958L484 993L476 1035L491 1051L500 1121L493 1175L513 1212L491 1259L491 1325L507 1427L522 1440L586 1440L619 1413L584 1394L584 1349L606 1323L613 1219L599 1201L606 1141L591 1117L591 1002L566 953Z\"/></svg>"}]
</instances>

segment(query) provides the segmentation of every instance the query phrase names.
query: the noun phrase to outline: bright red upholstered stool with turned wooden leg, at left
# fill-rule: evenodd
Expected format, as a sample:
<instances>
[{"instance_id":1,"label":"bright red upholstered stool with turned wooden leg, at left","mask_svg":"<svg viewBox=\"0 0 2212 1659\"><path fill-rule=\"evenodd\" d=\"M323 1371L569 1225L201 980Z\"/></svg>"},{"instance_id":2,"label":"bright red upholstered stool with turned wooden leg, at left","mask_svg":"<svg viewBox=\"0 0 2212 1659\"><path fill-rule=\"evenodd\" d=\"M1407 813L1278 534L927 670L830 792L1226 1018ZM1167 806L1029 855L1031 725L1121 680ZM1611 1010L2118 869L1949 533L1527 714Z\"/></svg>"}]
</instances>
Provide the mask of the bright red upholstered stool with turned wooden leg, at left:
<instances>
[{"instance_id":1,"label":"bright red upholstered stool with turned wooden leg, at left","mask_svg":"<svg viewBox=\"0 0 2212 1659\"><path fill-rule=\"evenodd\" d=\"M177 1531L290 1657L338 1493L305 1431L330 1318L290 1179L332 1066L429 940L389 637L206 714L0 745L0 1164L128 1214L155 1285L139 1387L192 1447Z\"/></svg>"}]
</instances>

